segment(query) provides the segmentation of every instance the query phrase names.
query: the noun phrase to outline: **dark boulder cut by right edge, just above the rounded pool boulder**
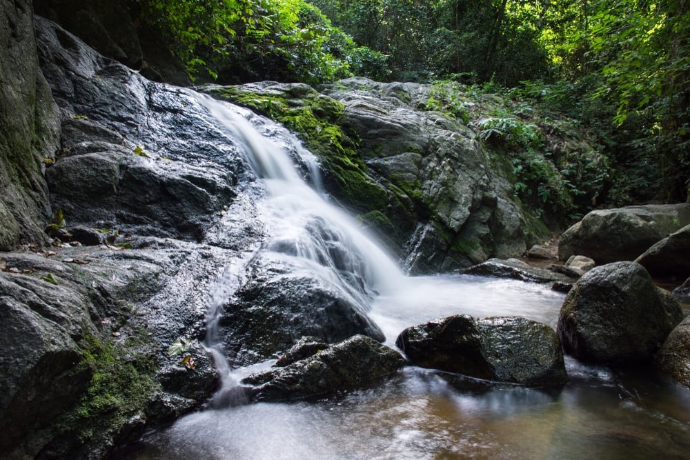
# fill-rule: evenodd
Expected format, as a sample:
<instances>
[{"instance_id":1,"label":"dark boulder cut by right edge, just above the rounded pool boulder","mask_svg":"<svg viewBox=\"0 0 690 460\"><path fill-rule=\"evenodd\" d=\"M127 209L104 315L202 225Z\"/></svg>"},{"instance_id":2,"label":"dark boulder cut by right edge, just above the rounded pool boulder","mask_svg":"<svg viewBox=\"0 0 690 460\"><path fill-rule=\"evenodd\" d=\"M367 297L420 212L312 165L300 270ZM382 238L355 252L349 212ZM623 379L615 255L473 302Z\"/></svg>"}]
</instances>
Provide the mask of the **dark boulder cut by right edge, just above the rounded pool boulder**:
<instances>
[{"instance_id":1,"label":"dark boulder cut by right edge, just above the rounded pool boulder","mask_svg":"<svg viewBox=\"0 0 690 460\"><path fill-rule=\"evenodd\" d=\"M635 259L653 277L677 281L690 277L690 225L658 241Z\"/></svg>"}]
</instances>

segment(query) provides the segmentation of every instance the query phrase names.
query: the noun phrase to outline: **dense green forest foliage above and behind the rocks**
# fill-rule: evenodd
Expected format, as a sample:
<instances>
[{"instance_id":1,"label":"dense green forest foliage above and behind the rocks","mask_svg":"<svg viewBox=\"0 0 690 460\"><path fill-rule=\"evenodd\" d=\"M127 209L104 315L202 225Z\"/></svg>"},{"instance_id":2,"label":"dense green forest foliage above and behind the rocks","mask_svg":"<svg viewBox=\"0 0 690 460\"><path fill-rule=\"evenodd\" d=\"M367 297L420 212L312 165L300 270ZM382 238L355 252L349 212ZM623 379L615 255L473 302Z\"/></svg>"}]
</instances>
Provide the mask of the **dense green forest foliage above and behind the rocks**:
<instances>
[{"instance_id":1,"label":"dense green forest foliage above and behind the rocks","mask_svg":"<svg viewBox=\"0 0 690 460\"><path fill-rule=\"evenodd\" d=\"M320 83L360 75L436 82L446 88L445 99L431 105L449 112L460 109L453 100L463 92L497 92L515 107L538 107L545 118L575 120L604 154L604 161L585 165L599 168L590 174L595 192L593 183L564 186L575 196L588 190L591 202L580 210L688 199L687 0L139 3L197 81ZM484 141L495 141L499 128L509 132L505 120L516 123L520 114L500 119L491 122L500 126L481 128L494 133ZM522 163L542 144L522 146ZM580 168L586 158L564 161L559 170ZM530 174L548 175L534 168ZM534 185L533 193L546 197L549 182Z\"/></svg>"}]
</instances>

